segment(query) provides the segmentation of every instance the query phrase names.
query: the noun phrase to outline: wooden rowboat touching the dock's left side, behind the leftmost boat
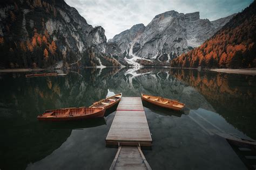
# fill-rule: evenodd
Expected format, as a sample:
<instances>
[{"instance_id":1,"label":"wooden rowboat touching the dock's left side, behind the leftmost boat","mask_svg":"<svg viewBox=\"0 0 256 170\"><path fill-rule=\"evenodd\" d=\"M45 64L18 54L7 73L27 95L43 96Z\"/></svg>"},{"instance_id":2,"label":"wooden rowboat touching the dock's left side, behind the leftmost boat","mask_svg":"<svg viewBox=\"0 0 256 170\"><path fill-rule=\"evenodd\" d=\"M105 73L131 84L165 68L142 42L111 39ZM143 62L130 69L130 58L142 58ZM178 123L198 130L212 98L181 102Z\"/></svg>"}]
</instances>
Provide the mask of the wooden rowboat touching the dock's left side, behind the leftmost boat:
<instances>
[{"instance_id":1,"label":"wooden rowboat touching the dock's left side, behind the leftmost boat","mask_svg":"<svg viewBox=\"0 0 256 170\"><path fill-rule=\"evenodd\" d=\"M98 102L93 103L89 108L105 108L109 109L117 104L122 98L122 93L105 98Z\"/></svg>"}]
</instances>

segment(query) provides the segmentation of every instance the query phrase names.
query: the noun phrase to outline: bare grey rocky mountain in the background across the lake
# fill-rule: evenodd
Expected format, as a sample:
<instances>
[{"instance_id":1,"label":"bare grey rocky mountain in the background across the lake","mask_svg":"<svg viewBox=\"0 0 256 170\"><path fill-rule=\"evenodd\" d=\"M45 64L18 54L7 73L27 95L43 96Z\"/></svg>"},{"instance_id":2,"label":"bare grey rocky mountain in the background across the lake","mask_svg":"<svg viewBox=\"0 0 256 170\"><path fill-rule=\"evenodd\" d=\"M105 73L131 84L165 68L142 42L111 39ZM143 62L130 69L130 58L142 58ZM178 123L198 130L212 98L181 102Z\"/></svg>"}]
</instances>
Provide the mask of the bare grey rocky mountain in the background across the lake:
<instances>
[{"instance_id":1,"label":"bare grey rocky mountain in the background across the lake","mask_svg":"<svg viewBox=\"0 0 256 170\"><path fill-rule=\"evenodd\" d=\"M120 58L129 63L134 64L141 58L148 64L151 61L171 61L201 45L233 16L210 22L200 19L199 12L184 14L167 11L154 17L146 27L143 24L134 25L130 30L114 36L108 43L116 44L121 51Z\"/></svg>"}]
</instances>

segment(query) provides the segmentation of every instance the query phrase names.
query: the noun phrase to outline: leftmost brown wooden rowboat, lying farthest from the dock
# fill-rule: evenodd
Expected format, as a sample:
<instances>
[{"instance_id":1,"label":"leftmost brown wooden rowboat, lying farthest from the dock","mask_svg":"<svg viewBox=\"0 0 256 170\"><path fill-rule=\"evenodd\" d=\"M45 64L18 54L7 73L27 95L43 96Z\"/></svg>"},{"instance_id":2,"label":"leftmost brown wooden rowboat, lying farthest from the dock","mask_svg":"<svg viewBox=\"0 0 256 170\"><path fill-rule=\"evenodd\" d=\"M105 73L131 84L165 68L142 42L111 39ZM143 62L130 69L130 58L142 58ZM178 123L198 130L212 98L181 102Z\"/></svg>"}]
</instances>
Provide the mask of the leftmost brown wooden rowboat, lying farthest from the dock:
<instances>
[{"instance_id":1,"label":"leftmost brown wooden rowboat, lying farthest from the dock","mask_svg":"<svg viewBox=\"0 0 256 170\"><path fill-rule=\"evenodd\" d=\"M37 116L37 119L39 121L74 121L103 117L104 113L104 108L63 108L46 110L42 115Z\"/></svg>"}]
</instances>

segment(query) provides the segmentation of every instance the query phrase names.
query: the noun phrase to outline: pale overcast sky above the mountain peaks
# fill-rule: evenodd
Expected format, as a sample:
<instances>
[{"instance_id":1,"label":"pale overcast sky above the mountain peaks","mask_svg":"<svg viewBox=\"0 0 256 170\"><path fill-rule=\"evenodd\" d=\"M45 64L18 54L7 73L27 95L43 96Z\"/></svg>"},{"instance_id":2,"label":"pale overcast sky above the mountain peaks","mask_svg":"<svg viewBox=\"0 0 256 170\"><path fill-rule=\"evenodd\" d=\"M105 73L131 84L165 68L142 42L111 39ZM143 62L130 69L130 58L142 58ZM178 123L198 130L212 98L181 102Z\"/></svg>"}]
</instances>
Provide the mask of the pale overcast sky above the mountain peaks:
<instances>
[{"instance_id":1,"label":"pale overcast sky above the mountain peaks","mask_svg":"<svg viewBox=\"0 0 256 170\"><path fill-rule=\"evenodd\" d=\"M145 26L154 16L170 10L179 13L200 12L200 18L215 20L240 12L253 0L65 0L75 7L88 24L102 26L107 39L130 29Z\"/></svg>"}]
</instances>

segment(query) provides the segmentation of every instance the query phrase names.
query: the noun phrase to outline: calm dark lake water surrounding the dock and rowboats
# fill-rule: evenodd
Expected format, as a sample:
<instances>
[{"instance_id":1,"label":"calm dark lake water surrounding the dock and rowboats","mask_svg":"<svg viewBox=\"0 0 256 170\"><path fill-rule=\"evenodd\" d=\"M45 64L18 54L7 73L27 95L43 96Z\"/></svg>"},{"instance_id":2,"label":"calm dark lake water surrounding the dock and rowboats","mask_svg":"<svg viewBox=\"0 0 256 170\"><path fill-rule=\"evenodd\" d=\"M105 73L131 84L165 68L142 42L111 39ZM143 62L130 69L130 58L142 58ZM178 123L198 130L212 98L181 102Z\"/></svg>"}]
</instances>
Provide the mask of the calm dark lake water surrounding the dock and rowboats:
<instances>
[{"instance_id":1,"label":"calm dark lake water surrounding the dock and rowboats","mask_svg":"<svg viewBox=\"0 0 256 170\"><path fill-rule=\"evenodd\" d=\"M177 99L184 112L144 103L152 133L143 150L152 169L247 169L214 133L256 139L256 77L197 70L84 69L55 77L0 75L0 169L109 169L105 146L115 111L78 122L38 122L47 109L89 106L140 93Z\"/></svg>"}]
</instances>

